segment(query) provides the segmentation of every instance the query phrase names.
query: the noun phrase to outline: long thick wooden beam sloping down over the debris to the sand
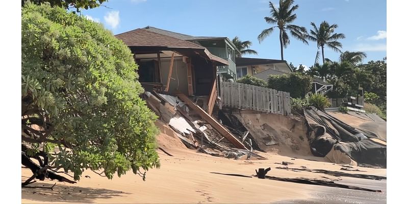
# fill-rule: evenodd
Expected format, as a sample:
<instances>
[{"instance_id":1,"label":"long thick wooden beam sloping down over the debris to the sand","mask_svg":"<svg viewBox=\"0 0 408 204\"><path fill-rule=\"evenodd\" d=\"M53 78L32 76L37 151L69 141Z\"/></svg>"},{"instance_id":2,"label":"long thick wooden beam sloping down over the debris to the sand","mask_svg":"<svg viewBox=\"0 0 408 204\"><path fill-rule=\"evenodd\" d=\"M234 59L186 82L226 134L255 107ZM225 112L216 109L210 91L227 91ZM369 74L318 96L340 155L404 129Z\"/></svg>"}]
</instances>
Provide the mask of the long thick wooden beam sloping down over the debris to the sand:
<instances>
[{"instance_id":1,"label":"long thick wooden beam sloping down over the debris to the sand","mask_svg":"<svg viewBox=\"0 0 408 204\"><path fill-rule=\"evenodd\" d=\"M248 150L244 144L242 144L237 138L234 137L234 135L230 133L230 131L226 130L224 126L222 126L220 123L217 122L217 120L211 117L207 112L202 110L199 106L194 104L193 101L190 100L190 98L188 98L183 93L177 93L176 95L179 96L179 98L183 100L184 103L186 103L190 108L196 111L202 117L202 119L210 123L210 125L213 126L214 129L217 130L222 136L224 136L228 141L234 144L235 147Z\"/></svg>"}]
</instances>

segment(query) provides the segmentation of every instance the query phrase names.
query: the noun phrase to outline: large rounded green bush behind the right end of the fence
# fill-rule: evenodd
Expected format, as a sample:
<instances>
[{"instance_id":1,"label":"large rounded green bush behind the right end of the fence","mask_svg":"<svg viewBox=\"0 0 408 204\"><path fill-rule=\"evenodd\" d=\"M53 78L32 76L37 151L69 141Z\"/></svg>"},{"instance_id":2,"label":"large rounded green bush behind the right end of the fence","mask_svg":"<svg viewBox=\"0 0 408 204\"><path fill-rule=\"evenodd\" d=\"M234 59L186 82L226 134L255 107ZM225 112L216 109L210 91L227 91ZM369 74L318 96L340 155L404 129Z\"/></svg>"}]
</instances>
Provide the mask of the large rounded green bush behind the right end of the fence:
<instances>
[{"instance_id":1,"label":"large rounded green bush behind the right end of the fence","mask_svg":"<svg viewBox=\"0 0 408 204\"><path fill-rule=\"evenodd\" d=\"M312 89L312 78L295 72L283 75L270 75L268 88L289 92L292 98L304 98Z\"/></svg>"}]
</instances>

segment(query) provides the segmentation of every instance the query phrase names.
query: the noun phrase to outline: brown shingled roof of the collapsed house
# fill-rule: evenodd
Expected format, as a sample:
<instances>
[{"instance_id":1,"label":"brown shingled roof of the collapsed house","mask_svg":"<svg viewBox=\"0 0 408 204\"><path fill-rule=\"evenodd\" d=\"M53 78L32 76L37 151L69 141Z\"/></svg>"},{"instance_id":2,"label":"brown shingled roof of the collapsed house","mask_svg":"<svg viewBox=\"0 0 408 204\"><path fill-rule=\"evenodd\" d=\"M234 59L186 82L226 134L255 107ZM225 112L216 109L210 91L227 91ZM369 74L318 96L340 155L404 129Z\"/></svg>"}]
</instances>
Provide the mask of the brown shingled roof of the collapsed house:
<instances>
[{"instance_id":1,"label":"brown shingled roof of the collapsed house","mask_svg":"<svg viewBox=\"0 0 408 204\"><path fill-rule=\"evenodd\" d=\"M115 35L122 40L127 46L151 46L151 47L174 47L174 48L199 48L205 47L198 44L181 40L175 37L150 32L145 29L136 29Z\"/></svg>"}]
</instances>

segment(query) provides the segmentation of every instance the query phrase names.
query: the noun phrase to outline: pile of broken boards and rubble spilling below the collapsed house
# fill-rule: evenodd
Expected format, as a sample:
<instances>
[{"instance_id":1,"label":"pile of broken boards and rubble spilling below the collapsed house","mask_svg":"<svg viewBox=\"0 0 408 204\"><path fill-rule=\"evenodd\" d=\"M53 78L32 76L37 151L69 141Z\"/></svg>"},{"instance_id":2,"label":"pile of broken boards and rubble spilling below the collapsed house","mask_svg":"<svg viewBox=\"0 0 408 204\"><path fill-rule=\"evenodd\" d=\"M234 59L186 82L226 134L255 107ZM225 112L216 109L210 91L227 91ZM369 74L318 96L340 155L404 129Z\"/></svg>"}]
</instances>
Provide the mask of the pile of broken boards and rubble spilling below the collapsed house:
<instances>
[{"instance_id":1,"label":"pile of broken boards and rubble spilling below the collapsed house","mask_svg":"<svg viewBox=\"0 0 408 204\"><path fill-rule=\"evenodd\" d=\"M177 96L145 92L147 106L168 124L190 149L237 160L266 159L255 152L248 132L233 134L184 94ZM238 134L237 134L238 133Z\"/></svg>"}]
</instances>

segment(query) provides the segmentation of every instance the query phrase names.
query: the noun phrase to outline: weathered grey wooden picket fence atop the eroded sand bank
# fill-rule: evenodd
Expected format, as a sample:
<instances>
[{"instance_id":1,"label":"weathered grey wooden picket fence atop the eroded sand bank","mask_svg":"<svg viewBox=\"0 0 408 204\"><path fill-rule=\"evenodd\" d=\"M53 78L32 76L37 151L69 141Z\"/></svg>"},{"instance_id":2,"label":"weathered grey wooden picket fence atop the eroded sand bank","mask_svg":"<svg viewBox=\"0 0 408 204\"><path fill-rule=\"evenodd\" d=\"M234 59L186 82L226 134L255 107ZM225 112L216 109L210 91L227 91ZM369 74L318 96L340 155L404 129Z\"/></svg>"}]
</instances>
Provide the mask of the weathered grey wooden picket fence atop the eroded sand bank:
<instances>
[{"instance_id":1,"label":"weathered grey wooden picket fence atop the eroded sand bank","mask_svg":"<svg viewBox=\"0 0 408 204\"><path fill-rule=\"evenodd\" d=\"M220 91L220 108L250 109L282 115L291 113L288 92L235 82L221 82Z\"/></svg>"}]
</instances>

